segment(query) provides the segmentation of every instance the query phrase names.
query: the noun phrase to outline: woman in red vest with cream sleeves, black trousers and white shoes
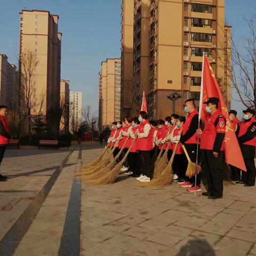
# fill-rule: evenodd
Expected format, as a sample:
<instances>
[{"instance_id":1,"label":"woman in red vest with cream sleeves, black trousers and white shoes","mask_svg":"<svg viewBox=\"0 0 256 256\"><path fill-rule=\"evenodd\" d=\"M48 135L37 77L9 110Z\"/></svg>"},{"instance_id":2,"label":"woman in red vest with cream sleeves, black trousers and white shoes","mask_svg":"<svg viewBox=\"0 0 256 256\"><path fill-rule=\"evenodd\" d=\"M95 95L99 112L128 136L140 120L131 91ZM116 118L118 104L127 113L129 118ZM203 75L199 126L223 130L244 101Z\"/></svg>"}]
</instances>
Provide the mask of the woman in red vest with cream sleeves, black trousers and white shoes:
<instances>
[{"instance_id":1,"label":"woman in red vest with cream sleeves, black trousers and white shoes","mask_svg":"<svg viewBox=\"0 0 256 256\"><path fill-rule=\"evenodd\" d=\"M146 111L140 111L140 126L135 135L137 138L137 147L139 150L139 159L141 163L141 175L137 179L141 182L149 182L152 176L150 169L150 151L152 149L152 133L151 126L148 122L148 114Z\"/></svg>"}]
</instances>

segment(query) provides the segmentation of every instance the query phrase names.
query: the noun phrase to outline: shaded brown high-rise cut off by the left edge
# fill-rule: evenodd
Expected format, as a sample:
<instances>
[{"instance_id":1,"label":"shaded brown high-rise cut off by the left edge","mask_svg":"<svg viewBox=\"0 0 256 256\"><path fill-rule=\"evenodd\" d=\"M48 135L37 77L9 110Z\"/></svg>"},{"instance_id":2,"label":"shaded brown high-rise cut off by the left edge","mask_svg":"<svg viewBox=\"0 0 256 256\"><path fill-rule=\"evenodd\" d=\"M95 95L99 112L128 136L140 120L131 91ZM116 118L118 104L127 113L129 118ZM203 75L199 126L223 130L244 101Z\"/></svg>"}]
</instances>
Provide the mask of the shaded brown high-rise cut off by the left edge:
<instances>
[{"instance_id":1,"label":"shaded brown high-rise cut off by the left edge","mask_svg":"<svg viewBox=\"0 0 256 256\"><path fill-rule=\"evenodd\" d=\"M19 84L16 66L8 62L5 54L0 54L0 105L9 111L18 110Z\"/></svg>"}]
</instances>

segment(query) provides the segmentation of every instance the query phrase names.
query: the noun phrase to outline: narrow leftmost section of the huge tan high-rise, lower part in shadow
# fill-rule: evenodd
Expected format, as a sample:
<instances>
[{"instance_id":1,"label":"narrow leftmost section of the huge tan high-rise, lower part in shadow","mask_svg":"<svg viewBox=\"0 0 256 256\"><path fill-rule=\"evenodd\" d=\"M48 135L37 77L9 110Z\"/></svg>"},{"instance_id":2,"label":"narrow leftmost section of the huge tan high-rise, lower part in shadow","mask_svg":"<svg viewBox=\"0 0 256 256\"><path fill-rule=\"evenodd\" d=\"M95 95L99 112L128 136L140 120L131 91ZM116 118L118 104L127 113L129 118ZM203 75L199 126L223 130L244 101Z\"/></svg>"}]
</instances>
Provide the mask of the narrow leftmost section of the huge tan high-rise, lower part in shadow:
<instances>
[{"instance_id":1,"label":"narrow leftmost section of the huge tan high-rise, lower part in shadow","mask_svg":"<svg viewBox=\"0 0 256 256\"><path fill-rule=\"evenodd\" d=\"M134 0L122 0L121 6L121 117L133 109L133 9Z\"/></svg>"}]
</instances>

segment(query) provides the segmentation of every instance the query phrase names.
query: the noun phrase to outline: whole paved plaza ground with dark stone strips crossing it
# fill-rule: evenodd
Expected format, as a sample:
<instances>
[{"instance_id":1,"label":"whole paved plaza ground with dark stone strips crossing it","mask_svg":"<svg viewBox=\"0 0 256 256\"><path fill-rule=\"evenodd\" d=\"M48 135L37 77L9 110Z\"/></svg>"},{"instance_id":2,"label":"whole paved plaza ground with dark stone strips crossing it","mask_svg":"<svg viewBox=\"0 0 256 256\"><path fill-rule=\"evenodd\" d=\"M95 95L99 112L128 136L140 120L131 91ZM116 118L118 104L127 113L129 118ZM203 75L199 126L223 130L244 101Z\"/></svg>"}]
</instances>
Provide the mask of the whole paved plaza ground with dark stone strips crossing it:
<instances>
[{"instance_id":1,"label":"whole paved plaza ground with dark stone strips crossing it","mask_svg":"<svg viewBox=\"0 0 256 256\"><path fill-rule=\"evenodd\" d=\"M209 200L177 184L80 183L103 146L9 149L1 170L0 255L256 255L256 188L225 187Z\"/></svg>"}]
</instances>

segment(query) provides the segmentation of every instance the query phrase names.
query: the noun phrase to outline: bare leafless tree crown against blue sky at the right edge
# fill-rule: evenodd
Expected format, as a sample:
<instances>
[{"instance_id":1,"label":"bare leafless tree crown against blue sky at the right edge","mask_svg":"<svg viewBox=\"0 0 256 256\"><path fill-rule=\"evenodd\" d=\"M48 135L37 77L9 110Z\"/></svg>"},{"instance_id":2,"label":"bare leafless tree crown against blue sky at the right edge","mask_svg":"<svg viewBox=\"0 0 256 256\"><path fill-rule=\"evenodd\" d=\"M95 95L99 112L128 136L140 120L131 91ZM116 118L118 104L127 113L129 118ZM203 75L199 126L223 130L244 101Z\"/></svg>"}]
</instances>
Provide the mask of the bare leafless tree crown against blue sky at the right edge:
<instances>
[{"instance_id":1,"label":"bare leafless tree crown against blue sky at the right edge","mask_svg":"<svg viewBox=\"0 0 256 256\"><path fill-rule=\"evenodd\" d=\"M255 18L246 19L249 34L235 42L231 28L222 28L225 33L225 40L219 42L224 54L218 52L219 60L231 81L231 88L235 89L238 101L241 101L246 108L256 108L256 22ZM228 47L228 44L230 46ZM222 81L225 83L225 81ZM234 97L233 97L234 98Z\"/></svg>"}]
</instances>

